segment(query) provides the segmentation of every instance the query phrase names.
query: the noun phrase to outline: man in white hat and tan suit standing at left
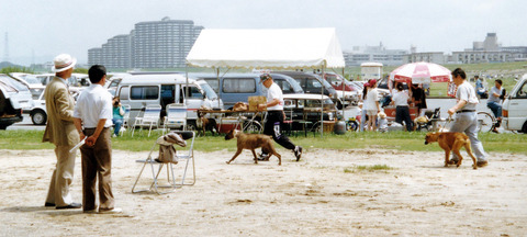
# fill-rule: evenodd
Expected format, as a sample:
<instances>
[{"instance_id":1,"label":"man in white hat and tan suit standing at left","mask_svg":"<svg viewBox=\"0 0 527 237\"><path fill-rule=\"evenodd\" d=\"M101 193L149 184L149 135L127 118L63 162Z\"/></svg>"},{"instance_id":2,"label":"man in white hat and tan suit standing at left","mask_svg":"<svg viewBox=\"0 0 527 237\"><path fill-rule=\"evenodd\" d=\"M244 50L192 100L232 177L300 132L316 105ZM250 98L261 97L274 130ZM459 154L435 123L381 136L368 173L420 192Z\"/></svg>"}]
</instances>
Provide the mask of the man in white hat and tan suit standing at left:
<instances>
[{"instance_id":1,"label":"man in white hat and tan suit standing at left","mask_svg":"<svg viewBox=\"0 0 527 237\"><path fill-rule=\"evenodd\" d=\"M46 100L47 123L44 131L43 143L55 145L57 163L52 174L49 190L45 206L56 208L80 208L80 203L74 202L69 187L74 181L75 156L77 150L69 150L77 145L79 133L74 124L75 100L68 90L68 78L74 72L77 63L68 54L60 54L53 60L52 70L55 77L46 86L44 98Z\"/></svg>"}]
</instances>

